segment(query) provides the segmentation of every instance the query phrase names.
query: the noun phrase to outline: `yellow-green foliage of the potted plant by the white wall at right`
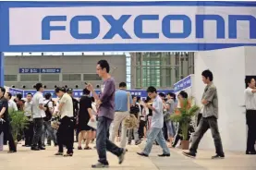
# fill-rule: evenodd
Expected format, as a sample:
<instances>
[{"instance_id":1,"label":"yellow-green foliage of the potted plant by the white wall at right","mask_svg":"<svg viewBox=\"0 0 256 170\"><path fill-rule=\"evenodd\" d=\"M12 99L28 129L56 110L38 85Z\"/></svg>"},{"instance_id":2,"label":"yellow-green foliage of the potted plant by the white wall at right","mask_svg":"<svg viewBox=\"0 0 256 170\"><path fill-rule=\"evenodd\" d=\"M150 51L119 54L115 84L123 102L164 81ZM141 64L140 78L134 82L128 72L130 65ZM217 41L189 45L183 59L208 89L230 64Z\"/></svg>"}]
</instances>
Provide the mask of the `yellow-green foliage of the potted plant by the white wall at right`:
<instances>
[{"instance_id":1,"label":"yellow-green foliage of the potted plant by the white wall at right","mask_svg":"<svg viewBox=\"0 0 256 170\"><path fill-rule=\"evenodd\" d=\"M200 110L200 107L198 105L189 106L188 99L184 99L180 105L181 108L177 108L175 113L170 115L170 119L179 123L183 140L188 140L189 122L191 117Z\"/></svg>"}]
</instances>

